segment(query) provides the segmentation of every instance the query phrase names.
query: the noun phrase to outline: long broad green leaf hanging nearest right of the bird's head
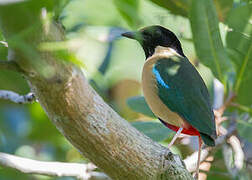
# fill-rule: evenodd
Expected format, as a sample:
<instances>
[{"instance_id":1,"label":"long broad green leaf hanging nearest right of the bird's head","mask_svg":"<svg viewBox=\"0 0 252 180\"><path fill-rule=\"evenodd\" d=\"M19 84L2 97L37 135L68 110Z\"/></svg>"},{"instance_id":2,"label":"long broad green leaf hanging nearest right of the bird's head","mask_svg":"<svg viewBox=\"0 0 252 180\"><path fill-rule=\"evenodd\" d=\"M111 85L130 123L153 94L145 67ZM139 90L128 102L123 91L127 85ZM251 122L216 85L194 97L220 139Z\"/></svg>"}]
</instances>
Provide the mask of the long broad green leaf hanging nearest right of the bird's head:
<instances>
[{"instance_id":1,"label":"long broad green leaf hanging nearest right of the bird's head","mask_svg":"<svg viewBox=\"0 0 252 180\"><path fill-rule=\"evenodd\" d=\"M213 1L193 1L190 22L197 56L212 70L214 76L225 84L225 75L232 66L221 41Z\"/></svg>"}]
</instances>

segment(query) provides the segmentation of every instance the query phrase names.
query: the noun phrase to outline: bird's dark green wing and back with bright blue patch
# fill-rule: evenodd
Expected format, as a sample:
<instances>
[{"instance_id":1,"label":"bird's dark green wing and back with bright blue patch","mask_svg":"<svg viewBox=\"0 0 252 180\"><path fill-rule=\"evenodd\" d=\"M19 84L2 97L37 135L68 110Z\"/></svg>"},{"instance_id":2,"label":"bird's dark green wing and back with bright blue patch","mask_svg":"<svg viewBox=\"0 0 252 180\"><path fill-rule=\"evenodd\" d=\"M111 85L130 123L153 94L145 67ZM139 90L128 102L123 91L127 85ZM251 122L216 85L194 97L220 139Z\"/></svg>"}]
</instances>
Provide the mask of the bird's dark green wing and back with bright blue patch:
<instances>
[{"instance_id":1,"label":"bird's dark green wing and back with bright blue patch","mask_svg":"<svg viewBox=\"0 0 252 180\"><path fill-rule=\"evenodd\" d=\"M158 95L172 111L196 128L208 145L214 145L216 127L207 87L186 57L160 59L153 67Z\"/></svg>"}]
</instances>

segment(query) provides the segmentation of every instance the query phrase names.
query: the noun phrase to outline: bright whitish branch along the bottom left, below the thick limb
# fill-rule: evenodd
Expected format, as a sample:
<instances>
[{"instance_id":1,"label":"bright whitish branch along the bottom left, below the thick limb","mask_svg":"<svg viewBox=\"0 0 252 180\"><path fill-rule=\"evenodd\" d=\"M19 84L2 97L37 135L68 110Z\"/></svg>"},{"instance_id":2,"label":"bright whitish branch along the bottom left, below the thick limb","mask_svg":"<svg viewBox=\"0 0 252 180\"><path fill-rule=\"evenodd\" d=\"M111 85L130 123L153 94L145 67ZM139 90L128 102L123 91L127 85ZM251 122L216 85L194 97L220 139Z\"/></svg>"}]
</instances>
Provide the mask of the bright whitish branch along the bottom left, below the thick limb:
<instances>
[{"instance_id":1,"label":"bright whitish branch along the bottom left, below the thick limb","mask_svg":"<svg viewBox=\"0 0 252 180\"><path fill-rule=\"evenodd\" d=\"M110 180L104 173L94 172L93 170L96 167L90 163L43 162L0 152L0 164L23 173L58 177L69 176L80 180Z\"/></svg>"}]
</instances>

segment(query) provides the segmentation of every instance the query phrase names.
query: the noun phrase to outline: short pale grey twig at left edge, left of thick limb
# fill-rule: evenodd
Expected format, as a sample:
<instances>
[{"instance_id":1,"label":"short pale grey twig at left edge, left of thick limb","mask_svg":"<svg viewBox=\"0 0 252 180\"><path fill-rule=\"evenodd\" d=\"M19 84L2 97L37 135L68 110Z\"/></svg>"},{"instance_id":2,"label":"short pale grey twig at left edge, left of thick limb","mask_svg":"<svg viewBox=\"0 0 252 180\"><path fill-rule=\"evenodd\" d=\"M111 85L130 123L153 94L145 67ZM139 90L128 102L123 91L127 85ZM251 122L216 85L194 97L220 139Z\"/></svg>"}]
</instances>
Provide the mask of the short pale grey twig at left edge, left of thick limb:
<instances>
[{"instance_id":1,"label":"short pale grey twig at left edge, left of thick limb","mask_svg":"<svg viewBox=\"0 0 252 180\"><path fill-rule=\"evenodd\" d=\"M19 95L12 91L0 90L0 99L10 100L18 104L31 103L36 100L33 93L28 93L26 95Z\"/></svg>"}]
</instances>

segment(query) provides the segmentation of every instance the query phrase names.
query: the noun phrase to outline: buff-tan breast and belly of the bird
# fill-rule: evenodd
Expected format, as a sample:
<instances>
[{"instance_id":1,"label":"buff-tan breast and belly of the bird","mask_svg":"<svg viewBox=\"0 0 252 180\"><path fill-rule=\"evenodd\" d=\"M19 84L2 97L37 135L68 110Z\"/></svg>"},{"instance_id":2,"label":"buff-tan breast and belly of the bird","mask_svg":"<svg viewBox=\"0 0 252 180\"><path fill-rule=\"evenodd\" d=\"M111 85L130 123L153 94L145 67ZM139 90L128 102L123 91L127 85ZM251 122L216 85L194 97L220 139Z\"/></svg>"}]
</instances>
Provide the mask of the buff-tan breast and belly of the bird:
<instances>
[{"instance_id":1,"label":"buff-tan breast and belly of the bird","mask_svg":"<svg viewBox=\"0 0 252 180\"><path fill-rule=\"evenodd\" d=\"M144 64L142 71L142 88L144 97L150 109L157 117L171 125L181 127L184 124L183 119L177 113L172 112L158 96L157 81L161 81L159 83L165 82L162 82L162 79L158 79L161 77L158 77L159 74L154 69L157 61L158 58L150 58Z\"/></svg>"}]
</instances>

